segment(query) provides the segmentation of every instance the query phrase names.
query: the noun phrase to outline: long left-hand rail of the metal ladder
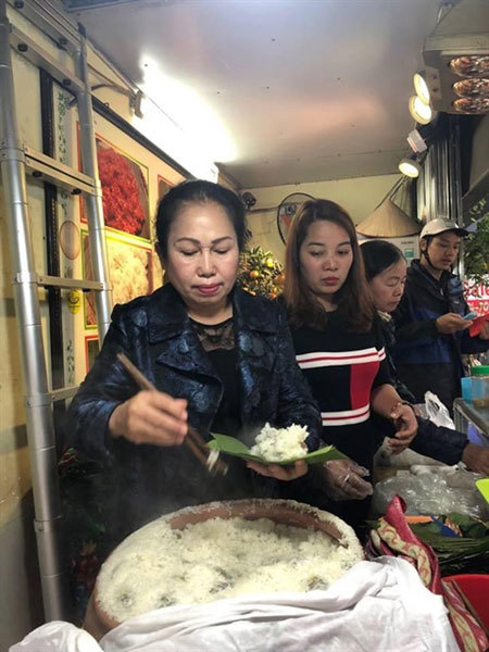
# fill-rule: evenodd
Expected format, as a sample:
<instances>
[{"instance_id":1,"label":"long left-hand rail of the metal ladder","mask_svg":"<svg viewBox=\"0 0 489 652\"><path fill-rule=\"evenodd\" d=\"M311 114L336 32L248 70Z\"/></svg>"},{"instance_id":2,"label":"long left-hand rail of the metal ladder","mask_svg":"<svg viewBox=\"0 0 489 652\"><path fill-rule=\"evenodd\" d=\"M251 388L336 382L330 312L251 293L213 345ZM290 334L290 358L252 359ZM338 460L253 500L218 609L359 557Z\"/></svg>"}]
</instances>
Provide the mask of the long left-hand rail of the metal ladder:
<instances>
[{"instance_id":1,"label":"long left-hand rail of the metal ladder","mask_svg":"<svg viewBox=\"0 0 489 652\"><path fill-rule=\"evenodd\" d=\"M25 187L24 152L15 118L7 2L0 0L0 166L12 255L15 313L25 387L27 438L33 479L35 530L45 615L63 619L67 576L61 565L61 501L51 398Z\"/></svg>"}]
</instances>

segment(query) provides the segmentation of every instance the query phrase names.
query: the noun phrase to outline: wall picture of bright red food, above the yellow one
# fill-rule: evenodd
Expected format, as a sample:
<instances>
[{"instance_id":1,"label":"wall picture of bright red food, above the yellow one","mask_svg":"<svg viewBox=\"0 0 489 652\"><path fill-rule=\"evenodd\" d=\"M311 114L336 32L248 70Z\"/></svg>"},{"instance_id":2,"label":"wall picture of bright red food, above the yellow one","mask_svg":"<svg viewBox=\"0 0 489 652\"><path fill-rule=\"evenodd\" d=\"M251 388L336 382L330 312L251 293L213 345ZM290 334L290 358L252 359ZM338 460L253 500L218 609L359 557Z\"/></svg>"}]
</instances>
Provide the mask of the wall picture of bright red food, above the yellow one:
<instances>
[{"instance_id":1,"label":"wall picture of bright red food, above the yellow one","mask_svg":"<svg viewBox=\"0 0 489 652\"><path fill-rule=\"evenodd\" d=\"M148 234L142 233L147 212L141 203L141 189L146 196L148 189L141 171L111 147L100 141L97 145L106 226L134 236L148 237Z\"/></svg>"}]
</instances>

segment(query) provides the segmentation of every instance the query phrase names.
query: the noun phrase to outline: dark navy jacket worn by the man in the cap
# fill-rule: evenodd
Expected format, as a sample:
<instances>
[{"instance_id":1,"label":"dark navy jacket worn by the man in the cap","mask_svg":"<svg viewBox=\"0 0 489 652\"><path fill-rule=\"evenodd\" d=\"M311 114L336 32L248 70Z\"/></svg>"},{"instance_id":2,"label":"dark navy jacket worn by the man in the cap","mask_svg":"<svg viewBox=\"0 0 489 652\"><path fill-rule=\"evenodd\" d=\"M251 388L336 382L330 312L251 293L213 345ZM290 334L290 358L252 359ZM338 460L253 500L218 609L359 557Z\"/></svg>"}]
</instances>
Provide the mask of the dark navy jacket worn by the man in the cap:
<instances>
[{"instance_id":1,"label":"dark navy jacket worn by the man in the cap","mask_svg":"<svg viewBox=\"0 0 489 652\"><path fill-rule=\"evenodd\" d=\"M487 351L489 341L472 338L468 330L438 333L437 318L449 312L462 316L468 312L460 279L443 272L437 280L419 261L413 261L404 296L393 313L398 375L418 402L430 390L451 410L453 400L461 396L461 354Z\"/></svg>"}]
</instances>

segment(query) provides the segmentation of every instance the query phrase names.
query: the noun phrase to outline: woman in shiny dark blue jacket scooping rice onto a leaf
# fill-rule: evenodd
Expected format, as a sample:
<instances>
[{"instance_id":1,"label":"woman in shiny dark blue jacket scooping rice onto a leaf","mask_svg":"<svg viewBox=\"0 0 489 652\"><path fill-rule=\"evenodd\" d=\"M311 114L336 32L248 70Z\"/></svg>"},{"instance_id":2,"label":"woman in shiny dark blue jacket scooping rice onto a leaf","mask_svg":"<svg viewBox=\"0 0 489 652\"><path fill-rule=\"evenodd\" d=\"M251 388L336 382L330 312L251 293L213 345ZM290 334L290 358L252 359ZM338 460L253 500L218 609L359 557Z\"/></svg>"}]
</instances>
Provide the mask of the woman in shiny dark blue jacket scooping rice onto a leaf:
<instances>
[{"instance_id":1,"label":"woman in shiny dark blue jacket scooping rice onto a leaf","mask_svg":"<svg viewBox=\"0 0 489 652\"><path fill-rule=\"evenodd\" d=\"M115 540L186 505L274 496L306 464L260 466L229 460L212 476L183 446L188 426L244 438L269 422L306 426L311 450L321 419L296 363L283 310L235 287L246 241L240 199L192 180L170 190L156 214L168 281L117 305L102 350L68 412L66 443L115 478ZM117 361L124 352L154 385L140 391Z\"/></svg>"}]
</instances>

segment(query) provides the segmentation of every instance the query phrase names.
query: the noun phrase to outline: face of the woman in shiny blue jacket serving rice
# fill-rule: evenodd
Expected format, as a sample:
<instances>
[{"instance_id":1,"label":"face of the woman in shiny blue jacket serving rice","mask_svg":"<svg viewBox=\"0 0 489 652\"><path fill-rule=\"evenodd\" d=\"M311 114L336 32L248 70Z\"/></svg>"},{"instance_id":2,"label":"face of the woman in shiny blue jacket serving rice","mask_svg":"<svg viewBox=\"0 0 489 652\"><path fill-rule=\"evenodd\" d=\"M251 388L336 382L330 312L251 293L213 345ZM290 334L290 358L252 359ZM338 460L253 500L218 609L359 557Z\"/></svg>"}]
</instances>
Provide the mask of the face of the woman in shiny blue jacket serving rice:
<instances>
[{"instance_id":1,"label":"face of the woman in shiny blue jacket serving rice","mask_svg":"<svg viewBox=\"0 0 489 652\"><path fill-rule=\"evenodd\" d=\"M236 233L217 203L188 203L168 233L164 265L168 280L191 309L213 309L227 302L238 271Z\"/></svg>"}]
</instances>

